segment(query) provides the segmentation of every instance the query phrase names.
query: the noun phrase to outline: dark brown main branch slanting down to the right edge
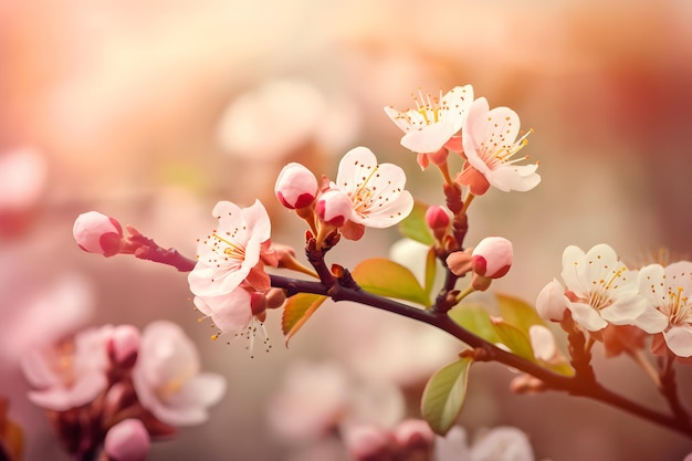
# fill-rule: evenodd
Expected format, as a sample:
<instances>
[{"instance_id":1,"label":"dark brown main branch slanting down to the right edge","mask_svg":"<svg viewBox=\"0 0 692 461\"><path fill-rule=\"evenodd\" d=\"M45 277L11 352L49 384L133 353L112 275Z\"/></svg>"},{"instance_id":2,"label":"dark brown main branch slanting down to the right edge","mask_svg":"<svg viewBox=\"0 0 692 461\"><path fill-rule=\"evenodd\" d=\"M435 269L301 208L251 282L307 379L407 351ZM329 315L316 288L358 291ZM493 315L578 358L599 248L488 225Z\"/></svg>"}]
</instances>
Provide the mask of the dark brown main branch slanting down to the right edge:
<instances>
[{"instance_id":1,"label":"dark brown main branch slanting down to the right edge","mask_svg":"<svg viewBox=\"0 0 692 461\"><path fill-rule=\"evenodd\" d=\"M335 302L352 301L432 325L471 346L475 360L501 363L541 379L549 389L562 390L569 395L601 401L692 438L692 426L689 421L643 407L602 387L596 380L590 378L584 379L581 377L583 375L576 375L574 377L558 375L533 362L503 350L463 328L450 318L447 313L420 310L390 298L374 295L359 287L344 286L340 283L326 287L321 282L304 281L281 275L270 275L270 277L272 286L285 290L289 296L297 293L319 294L329 296Z\"/></svg>"}]
</instances>

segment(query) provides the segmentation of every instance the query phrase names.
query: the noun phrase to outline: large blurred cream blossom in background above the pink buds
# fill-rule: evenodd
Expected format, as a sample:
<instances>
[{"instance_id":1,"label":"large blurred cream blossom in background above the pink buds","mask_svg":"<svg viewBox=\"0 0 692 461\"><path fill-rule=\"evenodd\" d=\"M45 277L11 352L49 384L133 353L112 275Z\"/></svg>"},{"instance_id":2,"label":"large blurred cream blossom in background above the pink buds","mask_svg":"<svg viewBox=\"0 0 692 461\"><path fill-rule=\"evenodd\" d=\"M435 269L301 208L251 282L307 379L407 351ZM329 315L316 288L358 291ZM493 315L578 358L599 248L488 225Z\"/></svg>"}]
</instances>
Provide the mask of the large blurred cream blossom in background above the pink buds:
<instances>
[{"instance_id":1,"label":"large blurred cream blossom in background above the pink buds","mask_svg":"<svg viewBox=\"0 0 692 461\"><path fill-rule=\"evenodd\" d=\"M235 97L218 136L229 154L256 160L280 158L313 140L338 151L357 130L357 116L344 103L328 101L310 83L275 80Z\"/></svg>"}]
</instances>

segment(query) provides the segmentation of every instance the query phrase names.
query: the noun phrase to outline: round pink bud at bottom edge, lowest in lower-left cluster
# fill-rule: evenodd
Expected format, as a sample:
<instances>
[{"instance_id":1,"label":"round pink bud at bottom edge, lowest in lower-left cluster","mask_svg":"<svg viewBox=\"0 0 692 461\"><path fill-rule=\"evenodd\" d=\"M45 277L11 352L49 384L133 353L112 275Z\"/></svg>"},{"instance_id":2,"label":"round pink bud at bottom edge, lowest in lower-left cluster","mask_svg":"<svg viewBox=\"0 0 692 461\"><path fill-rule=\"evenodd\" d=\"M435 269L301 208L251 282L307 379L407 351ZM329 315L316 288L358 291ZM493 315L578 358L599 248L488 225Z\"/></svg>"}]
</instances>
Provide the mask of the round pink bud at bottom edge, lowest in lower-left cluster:
<instances>
[{"instance_id":1,"label":"round pink bud at bottom edge, lowest in lower-left cluster","mask_svg":"<svg viewBox=\"0 0 692 461\"><path fill-rule=\"evenodd\" d=\"M108 461L145 461L150 444L144 423L129 418L108 429L104 450Z\"/></svg>"}]
</instances>

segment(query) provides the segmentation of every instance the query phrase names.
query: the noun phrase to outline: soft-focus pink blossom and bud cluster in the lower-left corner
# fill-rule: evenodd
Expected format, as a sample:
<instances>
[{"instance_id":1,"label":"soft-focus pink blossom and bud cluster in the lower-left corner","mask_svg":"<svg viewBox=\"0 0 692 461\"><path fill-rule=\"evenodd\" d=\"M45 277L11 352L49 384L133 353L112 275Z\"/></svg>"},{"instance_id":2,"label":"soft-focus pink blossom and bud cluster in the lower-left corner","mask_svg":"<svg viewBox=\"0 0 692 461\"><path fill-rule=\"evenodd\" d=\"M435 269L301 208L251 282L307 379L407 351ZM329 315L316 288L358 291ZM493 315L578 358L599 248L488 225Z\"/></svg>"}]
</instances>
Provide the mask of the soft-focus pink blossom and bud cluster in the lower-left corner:
<instances>
[{"instance_id":1,"label":"soft-focus pink blossom and bud cluster in the lower-left corner","mask_svg":"<svg viewBox=\"0 0 692 461\"><path fill-rule=\"evenodd\" d=\"M82 331L31 350L22 369L34 390L29 399L51 415L55 432L74 459L103 449L112 461L146 459L150 439L207 420L226 380L200 370L200 358L182 329L154 322Z\"/></svg>"}]
</instances>

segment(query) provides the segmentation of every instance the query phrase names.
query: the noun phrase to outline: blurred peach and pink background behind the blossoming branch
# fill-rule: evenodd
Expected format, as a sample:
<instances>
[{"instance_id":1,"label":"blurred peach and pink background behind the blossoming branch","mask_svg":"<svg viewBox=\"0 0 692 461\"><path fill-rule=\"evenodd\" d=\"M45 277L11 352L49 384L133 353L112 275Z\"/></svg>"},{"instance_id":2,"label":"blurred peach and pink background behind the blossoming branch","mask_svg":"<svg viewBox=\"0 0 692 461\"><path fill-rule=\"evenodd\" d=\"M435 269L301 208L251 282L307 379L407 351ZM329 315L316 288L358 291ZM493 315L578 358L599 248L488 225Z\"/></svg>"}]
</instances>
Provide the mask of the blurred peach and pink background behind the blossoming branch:
<instances>
[{"instance_id":1,"label":"blurred peach and pink background behind the blossoming branch","mask_svg":"<svg viewBox=\"0 0 692 461\"><path fill-rule=\"evenodd\" d=\"M24 398L17 359L85 325L172 319L197 343L205 368L228 379L210 420L155 443L151 460L307 460L307 444L271 423L292 364L333 360L358 379L416 395L457 352L407 319L327 304L289 349L271 313L272 350L251 359L242 342L209 340L185 274L80 251L78 213L98 210L192 256L218 200L260 198L273 240L300 254L304 229L273 198L283 165L334 177L340 156L364 145L401 165L416 196L442 202L439 175L419 170L382 107L411 105L419 88L470 83L535 130L525 151L541 163L542 184L483 196L468 238L511 239L515 263L495 289L533 303L559 274L568 244L610 243L631 265L660 248L692 255L691 57L685 0L0 2L0 394L28 430L25 459L61 458L45 417ZM397 239L394 230L368 230L331 262L387 255ZM36 296L51 300L43 311L30 310ZM664 408L636 366L601 355L604 383ZM692 376L680 371L692 404L684 390ZM537 459L555 461L692 452L685 438L599 404L511 395L512 376L475 366L461 425L517 426Z\"/></svg>"}]
</instances>

